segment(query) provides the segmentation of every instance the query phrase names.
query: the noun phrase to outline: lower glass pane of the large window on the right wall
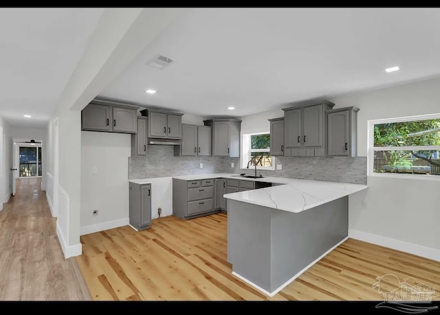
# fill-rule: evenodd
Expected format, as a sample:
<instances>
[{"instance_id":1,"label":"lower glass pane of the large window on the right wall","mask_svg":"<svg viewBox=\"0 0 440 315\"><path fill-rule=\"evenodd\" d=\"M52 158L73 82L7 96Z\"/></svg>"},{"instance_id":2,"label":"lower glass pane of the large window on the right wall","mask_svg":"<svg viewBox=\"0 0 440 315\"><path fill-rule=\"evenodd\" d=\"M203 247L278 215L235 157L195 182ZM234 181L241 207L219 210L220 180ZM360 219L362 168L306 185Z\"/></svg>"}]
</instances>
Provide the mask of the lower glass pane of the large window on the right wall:
<instances>
[{"instance_id":1,"label":"lower glass pane of the large window on the right wall","mask_svg":"<svg viewBox=\"0 0 440 315\"><path fill-rule=\"evenodd\" d=\"M375 151L375 173L440 175L439 151Z\"/></svg>"}]
</instances>

